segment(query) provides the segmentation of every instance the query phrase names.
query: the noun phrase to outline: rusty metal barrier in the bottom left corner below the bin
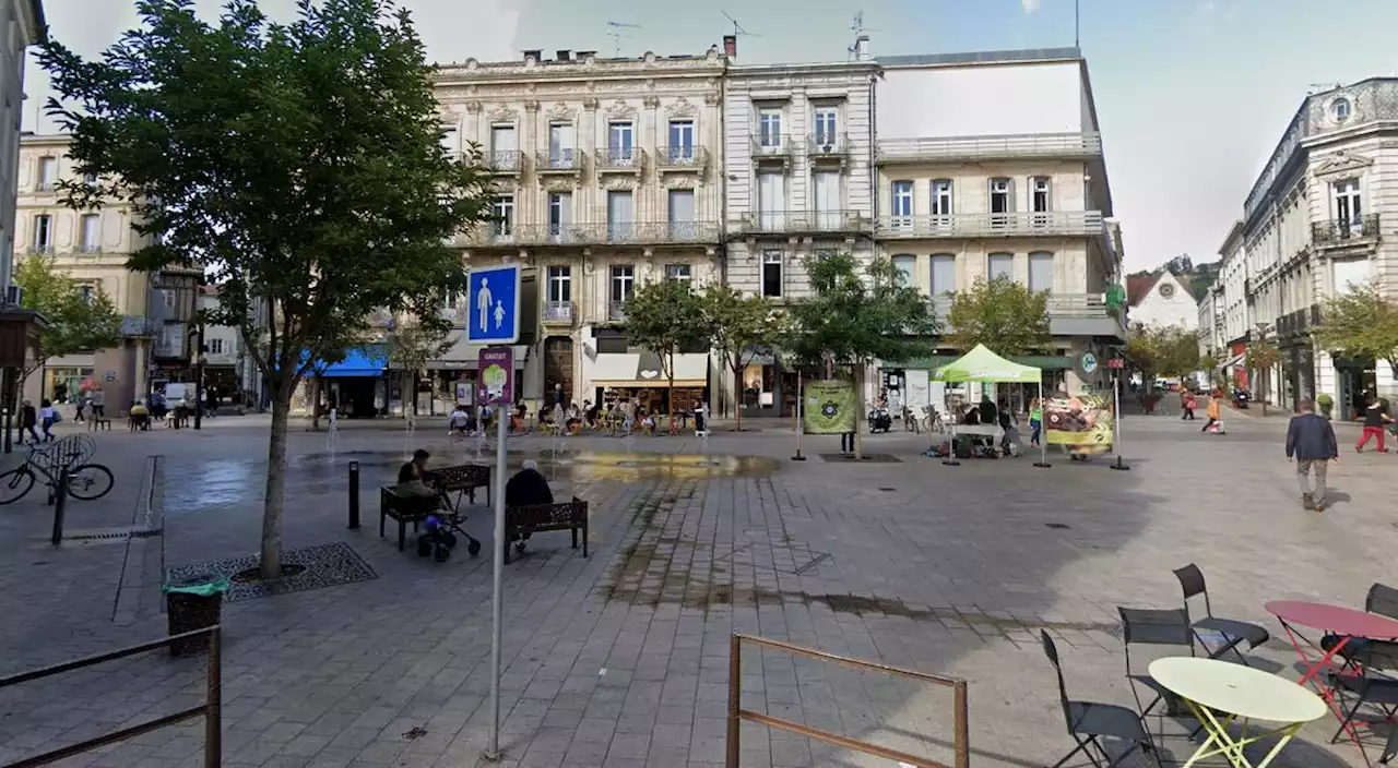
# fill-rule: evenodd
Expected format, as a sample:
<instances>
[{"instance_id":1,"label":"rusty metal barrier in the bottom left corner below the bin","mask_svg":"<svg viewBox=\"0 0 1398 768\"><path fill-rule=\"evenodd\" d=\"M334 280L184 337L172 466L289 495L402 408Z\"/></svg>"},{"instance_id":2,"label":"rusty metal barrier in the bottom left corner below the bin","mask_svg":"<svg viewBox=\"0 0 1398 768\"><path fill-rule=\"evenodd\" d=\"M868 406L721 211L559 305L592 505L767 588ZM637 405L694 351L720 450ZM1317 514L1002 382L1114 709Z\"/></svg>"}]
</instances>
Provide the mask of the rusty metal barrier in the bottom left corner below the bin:
<instances>
[{"instance_id":1,"label":"rusty metal barrier in the bottom left corner below the bin","mask_svg":"<svg viewBox=\"0 0 1398 768\"><path fill-rule=\"evenodd\" d=\"M164 718L144 722L141 725L123 728L122 730L115 730L105 736L98 736L96 739L88 739L87 741L81 741L78 744L62 747L53 751L43 753L41 755L29 757L18 762L10 762L3 768L36 768L38 765L48 765L50 762L57 762L67 757L92 751L98 747L105 747L108 744L116 744L117 741L124 741L131 736L140 736L143 733L159 730L165 726L190 721L200 715L204 716L204 768L218 768L221 764L221 754L222 754L222 743L221 743L222 730L219 722L221 721L219 711L222 709L222 700L219 693L219 688L222 686L222 674L219 663L218 624L212 627L204 627L203 630L194 630L192 633L171 635L151 642L144 642L141 645L131 645L130 648L122 648L120 651L112 651L109 653L98 653L96 656L87 656L85 659L77 659L74 662L64 662L62 665L46 666L42 669L35 669L32 672L21 672L20 674L13 674L10 677L0 677L0 688L8 688L10 686L18 686L21 683L29 683L32 680L41 680L43 677L63 674L64 672L73 672L75 669L84 669L103 662L124 659L126 656L134 656L137 653L144 653L147 651L155 651L157 648L165 648L176 640L186 640L192 637L199 637L201 634L208 634L208 677L207 677L204 704L200 704L199 707L192 707L180 712L175 712L173 715L165 715Z\"/></svg>"}]
</instances>

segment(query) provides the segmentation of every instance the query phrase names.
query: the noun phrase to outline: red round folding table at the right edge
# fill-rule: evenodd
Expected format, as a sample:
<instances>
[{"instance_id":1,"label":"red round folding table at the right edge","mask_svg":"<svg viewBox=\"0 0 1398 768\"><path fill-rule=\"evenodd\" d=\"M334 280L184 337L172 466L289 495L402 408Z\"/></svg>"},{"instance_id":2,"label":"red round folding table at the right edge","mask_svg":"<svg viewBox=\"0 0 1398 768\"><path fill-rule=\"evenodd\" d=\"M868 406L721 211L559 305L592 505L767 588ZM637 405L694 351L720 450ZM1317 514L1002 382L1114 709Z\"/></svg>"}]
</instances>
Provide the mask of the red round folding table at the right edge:
<instances>
[{"instance_id":1,"label":"red round folding table at the right edge","mask_svg":"<svg viewBox=\"0 0 1398 768\"><path fill-rule=\"evenodd\" d=\"M1310 683L1316 688L1316 693L1329 705L1329 711L1335 714L1335 718L1345 722L1345 714L1339 705L1339 694L1321 672L1334 666L1332 659L1345 649L1350 640L1398 640L1398 620L1352 607L1304 600L1274 600L1262 607L1282 623L1292 648L1296 649L1302 663L1306 666L1306 672L1299 680L1300 684ZM1300 634L1296 627L1332 633L1338 635L1338 640L1329 651L1325 651ZM1313 658L1313 652L1320 653L1320 658ZM1355 740L1355 746L1363 753L1364 746L1359 741L1359 732L1355 729L1355 725L1348 723L1345 732L1349 733L1349 737Z\"/></svg>"}]
</instances>

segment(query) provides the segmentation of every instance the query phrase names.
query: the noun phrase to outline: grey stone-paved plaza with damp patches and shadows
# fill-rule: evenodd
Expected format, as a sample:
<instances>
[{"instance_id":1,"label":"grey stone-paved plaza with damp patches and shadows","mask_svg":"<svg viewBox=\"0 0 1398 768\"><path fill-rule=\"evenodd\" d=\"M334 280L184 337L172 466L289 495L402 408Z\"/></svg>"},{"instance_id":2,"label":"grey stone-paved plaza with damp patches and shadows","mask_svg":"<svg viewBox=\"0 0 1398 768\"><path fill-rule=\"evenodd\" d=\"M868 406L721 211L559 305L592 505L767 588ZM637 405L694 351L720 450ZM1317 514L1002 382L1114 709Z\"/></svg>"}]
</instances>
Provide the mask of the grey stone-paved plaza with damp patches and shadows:
<instances>
[{"instance_id":1,"label":"grey stone-paved plaza with damp patches and shadows","mask_svg":"<svg viewBox=\"0 0 1398 768\"><path fill-rule=\"evenodd\" d=\"M1304 512L1285 420L1234 418L1227 436L1202 436L1198 422L1130 418L1130 472L1061 454L1048 469L1028 458L944 466L905 433L868 438L884 461L825 461L837 441L807 438L809 461L793 462L788 424L754 426L707 443L510 440L512 464L537 457L555 496L589 501L591 556L541 533L505 570L503 765L721 765L738 631L966 679L972 765L1046 767L1072 741L1040 630L1058 642L1072 697L1134 705L1117 606L1177 607L1173 568L1197 563L1215 613L1274 635L1267 600L1362 606L1371 582L1394 581L1381 564L1398 545L1387 511L1398 459L1346 448L1334 507ZM49 546L42 494L0 508L0 674L161 637L164 568L257 550L263 418L96 441L117 483L70 504L63 546ZM391 423L347 424L334 444L292 436L285 547L336 545L358 581L224 606L224 765L478 764L489 549L433 563L400 553L391 525L377 535L377 486L415 447L436 465L475 458L425 422L414 436ZM359 531L345 525L350 461L362 468ZM102 535L151 515L161 535ZM487 547L489 528L475 508L467 529ZM745 708L951 764L951 690L745 651ZM1296 677L1285 635L1257 656ZM203 658L164 653L0 691L0 764L197 705L203 691ZM1328 743L1335 725L1307 726L1274 765L1363 765L1353 744ZM1152 728L1166 732L1167 765L1192 751L1183 722ZM200 765L201 729L64 765ZM889 762L745 725L742 765Z\"/></svg>"}]
</instances>

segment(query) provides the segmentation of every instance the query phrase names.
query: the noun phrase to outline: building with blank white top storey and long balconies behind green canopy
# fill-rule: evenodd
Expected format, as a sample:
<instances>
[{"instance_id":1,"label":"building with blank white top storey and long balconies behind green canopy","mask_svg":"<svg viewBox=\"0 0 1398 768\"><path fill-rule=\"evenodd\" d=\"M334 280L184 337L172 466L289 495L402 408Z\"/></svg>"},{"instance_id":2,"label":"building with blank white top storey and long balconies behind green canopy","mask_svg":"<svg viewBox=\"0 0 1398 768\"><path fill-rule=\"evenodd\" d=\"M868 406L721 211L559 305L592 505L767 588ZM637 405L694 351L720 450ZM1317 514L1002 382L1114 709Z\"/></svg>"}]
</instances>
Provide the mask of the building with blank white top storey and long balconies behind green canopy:
<instances>
[{"instance_id":1,"label":"building with blank white top storey and long balconies behind green canopy","mask_svg":"<svg viewBox=\"0 0 1398 768\"><path fill-rule=\"evenodd\" d=\"M881 56L878 64L878 253L934 297L944 321L951 296L977 281L1005 276L1047 292L1054 349L1029 363L1044 369L1048 387L1106 387L1106 366L1085 353L1106 360L1125 338L1104 300L1121 279L1121 233L1081 52ZM956 352L886 364L885 384L921 392L925 371Z\"/></svg>"}]
</instances>

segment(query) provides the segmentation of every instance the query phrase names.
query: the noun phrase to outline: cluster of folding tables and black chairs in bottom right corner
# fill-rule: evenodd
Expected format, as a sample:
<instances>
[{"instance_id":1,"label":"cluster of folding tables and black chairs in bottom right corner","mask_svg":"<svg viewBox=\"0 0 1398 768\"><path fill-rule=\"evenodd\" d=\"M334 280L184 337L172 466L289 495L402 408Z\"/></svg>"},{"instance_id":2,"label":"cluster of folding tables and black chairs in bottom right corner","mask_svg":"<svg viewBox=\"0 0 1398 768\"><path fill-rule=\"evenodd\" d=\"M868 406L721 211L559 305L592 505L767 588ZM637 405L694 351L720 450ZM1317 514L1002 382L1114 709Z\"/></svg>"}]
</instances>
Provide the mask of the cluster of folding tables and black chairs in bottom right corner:
<instances>
[{"instance_id":1,"label":"cluster of folding tables and black chairs in bottom right corner","mask_svg":"<svg viewBox=\"0 0 1398 768\"><path fill-rule=\"evenodd\" d=\"M1234 768L1264 768L1285 754L1306 723L1327 712L1339 723L1331 743L1352 743L1366 765L1374 764L1374 744L1383 744L1377 762L1398 754L1398 589L1373 585L1364 610L1267 603L1300 660L1295 667L1300 677L1293 680L1285 667L1274 673L1248 658L1272 634L1216 616L1197 566L1179 568L1174 577L1183 592L1180 607L1118 607L1134 708L1069 698L1057 645L1040 631L1075 744L1054 768L1082 757L1097 768L1113 767L1137 754L1166 765L1160 751L1166 719L1183 721L1188 732L1188 757L1174 748L1173 757L1184 760L1174 764L1222 758ZM1144 653L1153 658L1142 662Z\"/></svg>"}]
</instances>

